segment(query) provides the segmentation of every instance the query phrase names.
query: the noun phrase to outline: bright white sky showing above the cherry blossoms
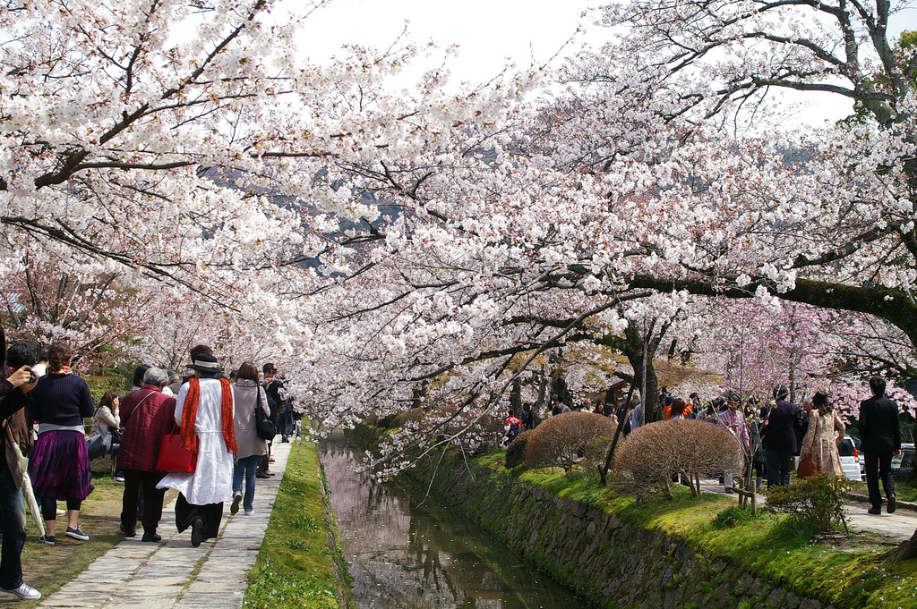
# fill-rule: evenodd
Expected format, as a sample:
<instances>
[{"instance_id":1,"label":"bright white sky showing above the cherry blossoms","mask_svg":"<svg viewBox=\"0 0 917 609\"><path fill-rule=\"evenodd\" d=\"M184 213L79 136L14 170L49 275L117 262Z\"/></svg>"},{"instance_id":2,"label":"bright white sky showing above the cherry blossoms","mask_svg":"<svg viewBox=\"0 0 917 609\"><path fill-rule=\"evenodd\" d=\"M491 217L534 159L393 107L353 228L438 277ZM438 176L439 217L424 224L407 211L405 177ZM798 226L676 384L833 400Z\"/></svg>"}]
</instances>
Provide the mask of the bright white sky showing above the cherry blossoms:
<instances>
[{"instance_id":1,"label":"bright white sky showing above the cherry blossoms","mask_svg":"<svg viewBox=\"0 0 917 609\"><path fill-rule=\"evenodd\" d=\"M435 40L441 47L458 45L458 56L447 62L453 82L486 82L508 62L519 68L540 64L558 51L568 55L582 42L598 47L610 31L592 25L583 13L601 0L332 0L305 21L304 55L323 61L340 53L343 44L386 49L402 33L418 45ZM565 47L578 27L584 33ZM917 30L917 2L890 24ZM436 56L436 63L441 54ZM791 123L834 121L850 112L850 104L834 94L797 95L809 107Z\"/></svg>"}]
</instances>

